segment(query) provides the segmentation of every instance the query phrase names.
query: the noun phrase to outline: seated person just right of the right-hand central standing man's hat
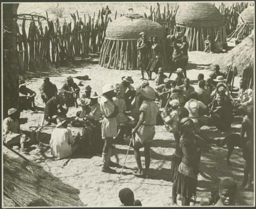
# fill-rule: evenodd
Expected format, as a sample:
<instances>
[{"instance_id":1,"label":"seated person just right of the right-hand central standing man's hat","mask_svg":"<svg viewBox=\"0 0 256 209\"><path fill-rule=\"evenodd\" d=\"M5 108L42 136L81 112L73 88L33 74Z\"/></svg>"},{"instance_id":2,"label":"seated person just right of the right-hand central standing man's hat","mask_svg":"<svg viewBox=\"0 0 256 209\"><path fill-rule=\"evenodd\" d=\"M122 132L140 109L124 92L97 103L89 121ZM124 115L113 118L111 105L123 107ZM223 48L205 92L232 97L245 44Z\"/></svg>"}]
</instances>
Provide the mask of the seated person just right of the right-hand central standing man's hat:
<instances>
[{"instance_id":1,"label":"seated person just right of the right-hand central standing man's hat","mask_svg":"<svg viewBox=\"0 0 256 209\"><path fill-rule=\"evenodd\" d=\"M158 96L160 97L160 108L165 107L167 100L173 90L170 79L165 78L164 84L157 86L155 89L157 91Z\"/></svg>"}]
</instances>

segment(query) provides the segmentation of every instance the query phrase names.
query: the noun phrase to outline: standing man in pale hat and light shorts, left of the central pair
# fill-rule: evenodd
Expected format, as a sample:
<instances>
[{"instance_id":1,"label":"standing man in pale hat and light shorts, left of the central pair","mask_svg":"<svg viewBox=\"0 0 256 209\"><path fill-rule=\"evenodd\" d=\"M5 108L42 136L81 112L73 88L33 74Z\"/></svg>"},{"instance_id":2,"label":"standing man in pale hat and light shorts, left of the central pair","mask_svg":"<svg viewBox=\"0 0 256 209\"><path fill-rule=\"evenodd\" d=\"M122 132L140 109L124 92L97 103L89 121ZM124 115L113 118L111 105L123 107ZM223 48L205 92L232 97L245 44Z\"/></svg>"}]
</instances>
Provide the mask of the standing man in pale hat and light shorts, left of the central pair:
<instances>
[{"instance_id":1,"label":"standing man in pale hat and light shorts, left of the central pair","mask_svg":"<svg viewBox=\"0 0 256 209\"><path fill-rule=\"evenodd\" d=\"M104 147L102 150L103 165L102 172L115 173L116 171L110 167L116 166L111 161L111 145L113 138L117 136L117 122L116 116L118 114L118 107L114 104L113 97L115 96L115 87L110 84L105 84L102 87L102 97L100 98L100 110L104 116L101 124L101 135L104 139Z\"/></svg>"}]
</instances>

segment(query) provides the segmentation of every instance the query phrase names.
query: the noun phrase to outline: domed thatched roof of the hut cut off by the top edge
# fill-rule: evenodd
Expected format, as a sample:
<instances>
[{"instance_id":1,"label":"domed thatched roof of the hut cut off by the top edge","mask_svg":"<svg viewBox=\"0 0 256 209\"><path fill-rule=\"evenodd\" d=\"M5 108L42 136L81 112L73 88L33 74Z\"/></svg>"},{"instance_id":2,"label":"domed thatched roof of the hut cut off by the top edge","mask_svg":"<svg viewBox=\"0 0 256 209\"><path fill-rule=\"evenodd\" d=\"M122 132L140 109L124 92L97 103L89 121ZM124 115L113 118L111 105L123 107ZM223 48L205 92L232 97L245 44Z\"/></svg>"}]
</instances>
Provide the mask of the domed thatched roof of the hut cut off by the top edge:
<instances>
[{"instance_id":1,"label":"domed thatched roof of the hut cut off by the top edge","mask_svg":"<svg viewBox=\"0 0 256 209\"><path fill-rule=\"evenodd\" d=\"M180 3L176 14L176 24L185 27L209 28L224 25L224 19L212 3Z\"/></svg>"}]
</instances>

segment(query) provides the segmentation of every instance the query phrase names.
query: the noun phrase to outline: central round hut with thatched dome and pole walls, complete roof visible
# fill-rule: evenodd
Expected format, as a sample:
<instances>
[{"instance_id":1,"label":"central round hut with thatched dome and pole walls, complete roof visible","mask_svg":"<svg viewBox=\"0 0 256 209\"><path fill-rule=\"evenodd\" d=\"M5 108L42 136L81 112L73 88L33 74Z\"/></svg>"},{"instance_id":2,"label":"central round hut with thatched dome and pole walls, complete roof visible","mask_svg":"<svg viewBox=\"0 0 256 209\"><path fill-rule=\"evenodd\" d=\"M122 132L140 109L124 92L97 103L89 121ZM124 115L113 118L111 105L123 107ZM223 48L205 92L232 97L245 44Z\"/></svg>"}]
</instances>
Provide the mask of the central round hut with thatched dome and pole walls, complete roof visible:
<instances>
[{"instance_id":1,"label":"central round hut with thatched dome and pole walls, complete roof visible","mask_svg":"<svg viewBox=\"0 0 256 209\"><path fill-rule=\"evenodd\" d=\"M139 14L124 14L108 24L99 64L114 69L137 69L137 40L140 32L157 36L165 62L163 27Z\"/></svg>"}]
</instances>

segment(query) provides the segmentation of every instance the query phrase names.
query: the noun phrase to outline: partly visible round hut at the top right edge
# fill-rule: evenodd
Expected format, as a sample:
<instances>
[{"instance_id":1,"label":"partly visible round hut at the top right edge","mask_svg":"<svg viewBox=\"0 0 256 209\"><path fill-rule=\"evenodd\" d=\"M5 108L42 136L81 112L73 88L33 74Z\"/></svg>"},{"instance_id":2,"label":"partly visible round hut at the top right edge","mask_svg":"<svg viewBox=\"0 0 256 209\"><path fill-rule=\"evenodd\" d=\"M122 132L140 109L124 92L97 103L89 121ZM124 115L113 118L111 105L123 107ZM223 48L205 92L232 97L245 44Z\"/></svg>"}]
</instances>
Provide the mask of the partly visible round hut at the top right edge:
<instances>
[{"instance_id":1,"label":"partly visible round hut at the top right edge","mask_svg":"<svg viewBox=\"0 0 256 209\"><path fill-rule=\"evenodd\" d=\"M243 40L254 29L254 7L247 7L238 17L237 39Z\"/></svg>"}]
</instances>

